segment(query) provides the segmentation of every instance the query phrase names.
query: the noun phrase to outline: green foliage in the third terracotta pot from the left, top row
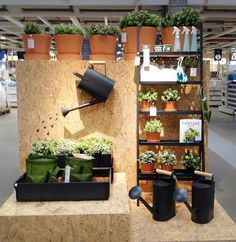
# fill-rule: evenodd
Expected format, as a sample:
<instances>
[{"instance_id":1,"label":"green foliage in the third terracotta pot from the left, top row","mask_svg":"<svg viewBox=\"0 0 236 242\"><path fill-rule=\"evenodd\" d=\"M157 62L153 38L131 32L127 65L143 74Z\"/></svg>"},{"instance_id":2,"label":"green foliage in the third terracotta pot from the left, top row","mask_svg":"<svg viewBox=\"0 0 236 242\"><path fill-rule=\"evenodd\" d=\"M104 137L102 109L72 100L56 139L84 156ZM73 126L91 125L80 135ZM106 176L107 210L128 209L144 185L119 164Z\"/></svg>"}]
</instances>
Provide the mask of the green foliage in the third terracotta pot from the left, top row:
<instances>
[{"instance_id":1,"label":"green foliage in the third terracotta pot from the left, top row","mask_svg":"<svg viewBox=\"0 0 236 242\"><path fill-rule=\"evenodd\" d=\"M118 35L120 33L119 29L111 25L104 24L92 24L85 28L86 34L90 35Z\"/></svg>"}]
</instances>

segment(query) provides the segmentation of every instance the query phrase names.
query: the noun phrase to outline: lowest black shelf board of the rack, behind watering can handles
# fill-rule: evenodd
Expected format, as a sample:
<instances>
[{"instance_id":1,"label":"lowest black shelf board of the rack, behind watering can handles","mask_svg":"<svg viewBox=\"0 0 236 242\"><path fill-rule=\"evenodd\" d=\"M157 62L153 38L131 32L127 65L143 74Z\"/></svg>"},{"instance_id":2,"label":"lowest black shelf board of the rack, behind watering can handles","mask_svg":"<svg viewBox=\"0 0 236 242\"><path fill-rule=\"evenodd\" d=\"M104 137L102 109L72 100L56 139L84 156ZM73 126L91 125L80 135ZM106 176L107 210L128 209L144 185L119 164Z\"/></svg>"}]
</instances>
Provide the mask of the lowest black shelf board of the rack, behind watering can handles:
<instances>
[{"instance_id":1,"label":"lowest black shelf board of the rack, behind watering can handles","mask_svg":"<svg viewBox=\"0 0 236 242\"><path fill-rule=\"evenodd\" d=\"M174 169L174 174L179 181L193 181L198 176L193 173L187 172L185 169ZM156 172L142 173L139 171L139 180L155 180L157 178Z\"/></svg>"}]
</instances>

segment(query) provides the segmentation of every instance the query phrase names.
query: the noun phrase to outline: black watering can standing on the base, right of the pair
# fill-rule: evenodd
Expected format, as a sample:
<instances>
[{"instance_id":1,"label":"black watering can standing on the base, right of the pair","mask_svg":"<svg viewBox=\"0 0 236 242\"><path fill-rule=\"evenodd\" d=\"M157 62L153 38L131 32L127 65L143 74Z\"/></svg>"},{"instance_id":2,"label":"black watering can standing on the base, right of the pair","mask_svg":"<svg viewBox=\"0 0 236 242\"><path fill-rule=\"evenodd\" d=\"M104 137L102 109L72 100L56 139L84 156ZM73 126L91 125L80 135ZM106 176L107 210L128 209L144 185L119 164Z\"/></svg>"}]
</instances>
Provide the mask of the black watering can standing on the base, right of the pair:
<instances>
[{"instance_id":1,"label":"black watering can standing on the base, right of the pair","mask_svg":"<svg viewBox=\"0 0 236 242\"><path fill-rule=\"evenodd\" d=\"M184 202L192 214L192 221L199 224L210 222L214 217L215 182L213 174L195 171L198 176L192 183L192 207L188 203L188 192L185 189L176 189L174 199Z\"/></svg>"}]
</instances>

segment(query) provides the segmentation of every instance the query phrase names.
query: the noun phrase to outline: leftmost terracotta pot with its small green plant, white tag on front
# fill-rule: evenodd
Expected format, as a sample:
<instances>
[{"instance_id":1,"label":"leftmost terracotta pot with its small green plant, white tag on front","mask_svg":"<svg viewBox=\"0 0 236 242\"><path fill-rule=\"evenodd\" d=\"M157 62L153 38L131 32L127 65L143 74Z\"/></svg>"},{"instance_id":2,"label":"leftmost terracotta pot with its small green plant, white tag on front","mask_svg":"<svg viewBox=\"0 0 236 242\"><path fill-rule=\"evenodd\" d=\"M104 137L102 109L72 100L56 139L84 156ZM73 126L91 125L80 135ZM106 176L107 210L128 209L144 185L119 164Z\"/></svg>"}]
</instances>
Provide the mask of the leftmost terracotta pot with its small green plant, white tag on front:
<instances>
[{"instance_id":1,"label":"leftmost terracotta pot with its small green plant, white tag on front","mask_svg":"<svg viewBox=\"0 0 236 242\"><path fill-rule=\"evenodd\" d=\"M38 24L27 22L24 27L23 43L25 60L49 60L51 36L42 34Z\"/></svg>"}]
</instances>

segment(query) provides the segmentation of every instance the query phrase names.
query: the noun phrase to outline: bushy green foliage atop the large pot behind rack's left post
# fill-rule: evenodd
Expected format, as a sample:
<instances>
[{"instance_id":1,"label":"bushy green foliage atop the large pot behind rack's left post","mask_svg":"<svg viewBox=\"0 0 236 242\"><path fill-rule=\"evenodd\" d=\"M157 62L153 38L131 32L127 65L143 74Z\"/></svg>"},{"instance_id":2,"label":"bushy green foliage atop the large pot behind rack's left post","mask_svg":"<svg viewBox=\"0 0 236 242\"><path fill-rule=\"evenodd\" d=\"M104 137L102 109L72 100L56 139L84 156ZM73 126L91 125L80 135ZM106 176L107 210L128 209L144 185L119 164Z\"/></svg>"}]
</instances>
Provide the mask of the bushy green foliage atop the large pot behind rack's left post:
<instances>
[{"instance_id":1,"label":"bushy green foliage atop the large pot behind rack's left post","mask_svg":"<svg viewBox=\"0 0 236 242\"><path fill-rule=\"evenodd\" d=\"M128 15L120 18L120 29L124 29L129 26L160 26L160 17L155 14L151 14L146 10L136 10L128 13Z\"/></svg>"}]
</instances>

